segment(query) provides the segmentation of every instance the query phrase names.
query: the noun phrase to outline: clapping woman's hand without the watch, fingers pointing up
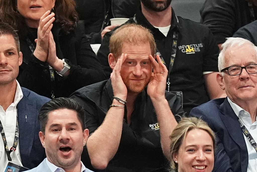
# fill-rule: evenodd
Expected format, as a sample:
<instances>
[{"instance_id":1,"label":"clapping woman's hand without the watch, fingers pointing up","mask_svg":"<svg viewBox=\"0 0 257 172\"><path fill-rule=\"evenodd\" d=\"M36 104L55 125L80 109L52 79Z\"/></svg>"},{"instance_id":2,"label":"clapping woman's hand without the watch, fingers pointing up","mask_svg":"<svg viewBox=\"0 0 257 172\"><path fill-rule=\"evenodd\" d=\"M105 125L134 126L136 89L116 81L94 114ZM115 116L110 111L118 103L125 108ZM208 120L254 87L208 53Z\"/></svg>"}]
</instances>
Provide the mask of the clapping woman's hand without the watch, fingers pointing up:
<instances>
[{"instance_id":1,"label":"clapping woman's hand without the watch, fingers pointing up","mask_svg":"<svg viewBox=\"0 0 257 172\"><path fill-rule=\"evenodd\" d=\"M34 51L34 56L39 60L45 62L48 57L49 48L49 34L53 27L53 22L55 20L54 13L50 14L50 11L44 13L40 18L38 26L38 39L35 40L36 48Z\"/></svg>"}]
</instances>

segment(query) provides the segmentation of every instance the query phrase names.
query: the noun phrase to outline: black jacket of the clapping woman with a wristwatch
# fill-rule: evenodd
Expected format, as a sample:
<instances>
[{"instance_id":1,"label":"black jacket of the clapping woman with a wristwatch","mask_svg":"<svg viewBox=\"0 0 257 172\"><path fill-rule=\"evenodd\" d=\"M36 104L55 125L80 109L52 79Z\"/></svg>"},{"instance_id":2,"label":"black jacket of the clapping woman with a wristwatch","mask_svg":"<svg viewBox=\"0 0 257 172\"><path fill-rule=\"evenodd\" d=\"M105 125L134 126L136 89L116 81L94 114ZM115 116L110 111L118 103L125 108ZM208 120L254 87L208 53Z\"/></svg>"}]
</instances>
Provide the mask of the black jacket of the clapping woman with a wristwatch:
<instances>
[{"instance_id":1,"label":"black jacket of the clapping woman with a wristwatch","mask_svg":"<svg viewBox=\"0 0 257 172\"><path fill-rule=\"evenodd\" d=\"M50 79L49 67L32 55L27 38L33 42L37 38L35 28L30 28L26 37L20 37L20 46L23 53L23 63L17 80L22 87L30 89L42 96L52 98L52 91L57 97L68 97L71 93L86 85L105 80L105 75L95 53L91 49L83 25L69 35L65 35L60 27L54 23L52 33L56 43L56 54L59 59L66 58L71 63L70 74L64 78L56 72L54 82Z\"/></svg>"}]
</instances>

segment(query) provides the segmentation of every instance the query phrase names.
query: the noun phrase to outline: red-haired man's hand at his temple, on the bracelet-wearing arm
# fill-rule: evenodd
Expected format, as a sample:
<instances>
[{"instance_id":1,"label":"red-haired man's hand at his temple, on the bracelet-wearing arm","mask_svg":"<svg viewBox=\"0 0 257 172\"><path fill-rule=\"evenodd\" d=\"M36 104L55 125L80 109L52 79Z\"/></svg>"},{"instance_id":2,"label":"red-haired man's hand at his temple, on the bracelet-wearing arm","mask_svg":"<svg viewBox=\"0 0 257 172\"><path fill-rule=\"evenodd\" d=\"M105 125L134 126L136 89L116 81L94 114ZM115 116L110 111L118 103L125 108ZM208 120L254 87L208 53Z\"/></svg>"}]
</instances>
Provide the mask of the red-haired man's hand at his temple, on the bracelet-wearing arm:
<instances>
[{"instance_id":1,"label":"red-haired man's hand at his temple, on the bracelet-wearing arm","mask_svg":"<svg viewBox=\"0 0 257 172\"><path fill-rule=\"evenodd\" d=\"M113 72L111 73L111 81L112 81L112 87L113 87L113 95L122 99L126 100L127 98L127 87L124 84L122 78L121 78L121 66L123 62L126 60L127 54L121 54L121 57L117 60L117 63L115 64L113 68Z\"/></svg>"}]
</instances>

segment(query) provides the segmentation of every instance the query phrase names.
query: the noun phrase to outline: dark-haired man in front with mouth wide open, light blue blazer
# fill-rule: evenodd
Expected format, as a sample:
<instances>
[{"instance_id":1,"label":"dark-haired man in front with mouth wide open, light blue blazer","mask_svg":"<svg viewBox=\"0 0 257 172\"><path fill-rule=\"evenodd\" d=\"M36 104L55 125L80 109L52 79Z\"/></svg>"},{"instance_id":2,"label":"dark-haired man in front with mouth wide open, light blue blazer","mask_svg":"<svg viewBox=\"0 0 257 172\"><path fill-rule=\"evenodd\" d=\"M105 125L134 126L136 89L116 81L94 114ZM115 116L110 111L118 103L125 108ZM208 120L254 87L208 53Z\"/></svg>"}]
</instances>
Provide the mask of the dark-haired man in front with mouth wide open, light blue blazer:
<instances>
[{"instance_id":1,"label":"dark-haired man in front with mouth wide open, light blue blazer","mask_svg":"<svg viewBox=\"0 0 257 172\"><path fill-rule=\"evenodd\" d=\"M27 172L92 172L80 161L89 135L84 117L84 109L73 99L45 103L39 113L39 137L47 158Z\"/></svg>"}]
</instances>

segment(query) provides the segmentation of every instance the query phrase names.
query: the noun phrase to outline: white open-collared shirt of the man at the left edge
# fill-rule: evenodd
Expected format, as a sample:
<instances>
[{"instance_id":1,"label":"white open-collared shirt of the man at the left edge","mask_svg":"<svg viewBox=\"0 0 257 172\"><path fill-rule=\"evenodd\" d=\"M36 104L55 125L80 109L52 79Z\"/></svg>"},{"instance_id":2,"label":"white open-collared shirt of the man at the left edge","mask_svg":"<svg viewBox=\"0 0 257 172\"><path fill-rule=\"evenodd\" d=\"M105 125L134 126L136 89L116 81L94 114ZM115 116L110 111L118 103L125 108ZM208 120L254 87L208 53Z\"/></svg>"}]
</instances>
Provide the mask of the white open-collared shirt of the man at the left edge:
<instances>
[{"instance_id":1,"label":"white open-collared shirt of the man at the left edge","mask_svg":"<svg viewBox=\"0 0 257 172\"><path fill-rule=\"evenodd\" d=\"M0 121L3 125L3 130L5 133L8 149L13 146L15 130L16 130L16 118L17 118L17 104L23 97L23 93L21 90L21 86L17 82L16 93L14 97L14 102L4 111L3 107L0 106ZM1 135L1 134L0 134ZM0 136L0 171L5 170L8 162L12 162L13 164L21 165L21 156L19 150L19 141L15 151L12 151L10 154L12 161L8 161L7 154L4 149L4 141L2 135Z\"/></svg>"}]
</instances>

